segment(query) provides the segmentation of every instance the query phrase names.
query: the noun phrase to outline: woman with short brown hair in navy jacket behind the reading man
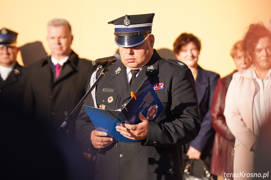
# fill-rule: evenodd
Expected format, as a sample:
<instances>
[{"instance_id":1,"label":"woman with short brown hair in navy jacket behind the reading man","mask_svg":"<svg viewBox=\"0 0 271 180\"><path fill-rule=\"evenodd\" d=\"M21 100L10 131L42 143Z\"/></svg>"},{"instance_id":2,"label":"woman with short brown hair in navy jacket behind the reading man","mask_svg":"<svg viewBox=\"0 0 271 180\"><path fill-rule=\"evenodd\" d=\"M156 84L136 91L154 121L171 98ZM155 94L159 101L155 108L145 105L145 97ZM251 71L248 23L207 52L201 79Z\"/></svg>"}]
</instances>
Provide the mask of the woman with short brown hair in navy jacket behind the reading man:
<instances>
[{"instance_id":1,"label":"woman with short brown hair in navy jacket behind the reading man","mask_svg":"<svg viewBox=\"0 0 271 180\"><path fill-rule=\"evenodd\" d=\"M205 162L209 171L215 134L212 128L210 111L214 90L220 76L212 71L204 70L198 65L200 49L201 43L193 34L182 33L174 42L176 58L187 64L194 76L201 120L201 129L198 136L184 146L183 167L185 167L188 158L192 159L189 160L191 164L189 172L193 175L206 176L200 159Z\"/></svg>"}]
</instances>

